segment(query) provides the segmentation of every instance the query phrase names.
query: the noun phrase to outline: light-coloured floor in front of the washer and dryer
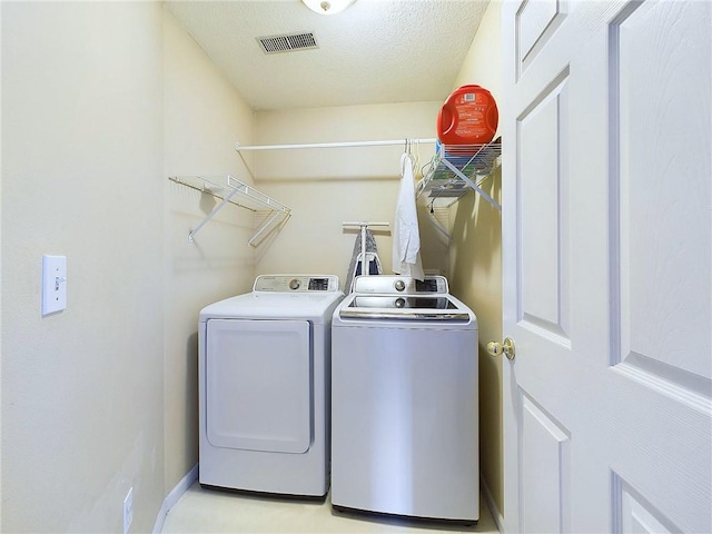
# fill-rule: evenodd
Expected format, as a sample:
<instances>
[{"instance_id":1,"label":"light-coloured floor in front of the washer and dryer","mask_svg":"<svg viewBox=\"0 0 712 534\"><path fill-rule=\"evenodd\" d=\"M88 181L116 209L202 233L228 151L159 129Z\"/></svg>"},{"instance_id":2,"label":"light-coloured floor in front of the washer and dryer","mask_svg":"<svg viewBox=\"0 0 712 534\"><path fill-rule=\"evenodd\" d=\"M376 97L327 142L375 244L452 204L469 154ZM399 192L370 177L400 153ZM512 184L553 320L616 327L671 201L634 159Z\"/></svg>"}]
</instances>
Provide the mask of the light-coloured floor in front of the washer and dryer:
<instances>
[{"instance_id":1,"label":"light-coloured floor in front of the washer and dryer","mask_svg":"<svg viewBox=\"0 0 712 534\"><path fill-rule=\"evenodd\" d=\"M162 534L172 533L497 533L484 498L479 523L467 527L447 523L343 514L325 502L248 496L205 490L196 482L168 512Z\"/></svg>"}]
</instances>

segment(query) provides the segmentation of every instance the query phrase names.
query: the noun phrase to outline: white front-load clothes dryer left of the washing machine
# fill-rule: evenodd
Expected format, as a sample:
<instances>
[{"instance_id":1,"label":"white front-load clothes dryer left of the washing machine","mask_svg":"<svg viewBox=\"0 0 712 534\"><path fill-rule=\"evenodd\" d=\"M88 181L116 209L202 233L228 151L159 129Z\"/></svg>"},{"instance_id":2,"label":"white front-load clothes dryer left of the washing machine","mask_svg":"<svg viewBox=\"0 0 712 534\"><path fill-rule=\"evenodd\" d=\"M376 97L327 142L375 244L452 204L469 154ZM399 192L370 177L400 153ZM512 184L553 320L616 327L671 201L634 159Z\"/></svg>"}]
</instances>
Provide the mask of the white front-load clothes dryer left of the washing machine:
<instances>
[{"instance_id":1,"label":"white front-load clothes dryer left of the washing machine","mask_svg":"<svg viewBox=\"0 0 712 534\"><path fill-rule=\"evenodd\" d=\"M200 312L199 481L324 496L329 484L330 322L336 276L258 276Z\"/></svg>"}]
</instances>

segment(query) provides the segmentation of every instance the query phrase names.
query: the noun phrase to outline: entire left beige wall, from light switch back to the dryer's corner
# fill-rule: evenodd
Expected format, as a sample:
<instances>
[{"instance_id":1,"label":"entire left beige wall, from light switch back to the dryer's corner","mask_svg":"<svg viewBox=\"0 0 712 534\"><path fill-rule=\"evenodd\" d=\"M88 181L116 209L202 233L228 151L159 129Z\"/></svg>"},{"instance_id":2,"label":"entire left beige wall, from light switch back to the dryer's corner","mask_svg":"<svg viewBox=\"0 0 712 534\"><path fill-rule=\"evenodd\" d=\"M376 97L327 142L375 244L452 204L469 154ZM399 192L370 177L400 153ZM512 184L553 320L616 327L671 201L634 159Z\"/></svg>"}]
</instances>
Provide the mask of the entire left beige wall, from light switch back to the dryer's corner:
<instances>
[{"instance_id":1,"label":"entire left beige wall, from light switch back to the dryer's corner","mask_svg":"<svg viewBox=\"0 0 712 534\"><path fill-rule=\"evenodd\" d=\"M197 318L249 289L250 212L172 175L231 174L253 112L155 2L2 3L2 530L152 530L198 462ZM42 254L68 308L40 316Z\"/></svg>"}]
</instances>

